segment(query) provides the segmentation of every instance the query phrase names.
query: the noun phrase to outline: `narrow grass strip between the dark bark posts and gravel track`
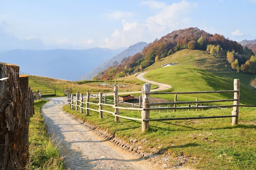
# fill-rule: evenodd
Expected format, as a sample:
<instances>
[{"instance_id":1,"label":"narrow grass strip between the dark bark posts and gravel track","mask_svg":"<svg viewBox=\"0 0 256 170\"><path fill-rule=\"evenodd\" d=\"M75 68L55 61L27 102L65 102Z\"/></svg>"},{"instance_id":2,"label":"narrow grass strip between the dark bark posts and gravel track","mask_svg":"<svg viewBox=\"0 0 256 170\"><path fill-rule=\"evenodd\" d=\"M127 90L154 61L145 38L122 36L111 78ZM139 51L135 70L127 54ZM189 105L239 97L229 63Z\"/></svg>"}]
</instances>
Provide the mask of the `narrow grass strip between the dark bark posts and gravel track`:
<instances>
[{"instance_id":1,"label":"narrow grass strip between the dark bark posts and gravel track","mask_svg":"<svg viewBox=\"0 0 256 170\"><path fill-rule=\"evenodd\" d=\"M40 108L47 100L35 101L35 115L29 123L29 163L26 170L65 170L63 157L49 137Z\"/></svg>"}]
</instances>

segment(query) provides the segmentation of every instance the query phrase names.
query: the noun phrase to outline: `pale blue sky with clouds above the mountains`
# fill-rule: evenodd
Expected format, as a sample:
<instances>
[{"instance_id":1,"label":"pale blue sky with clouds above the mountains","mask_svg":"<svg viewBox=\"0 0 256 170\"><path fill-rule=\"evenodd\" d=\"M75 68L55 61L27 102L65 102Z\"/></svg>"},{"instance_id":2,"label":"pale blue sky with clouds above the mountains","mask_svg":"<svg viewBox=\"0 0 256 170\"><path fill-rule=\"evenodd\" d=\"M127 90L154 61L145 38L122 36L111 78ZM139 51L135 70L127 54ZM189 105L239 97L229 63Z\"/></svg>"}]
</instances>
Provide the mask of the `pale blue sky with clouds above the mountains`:
<instances>
[{"instance_id":1,"label":"pale blue sky with clouds above the mountains","mask_svg":"<svg viewBox=\"0 0 256 170\"><path fill-rule=\"evenodd\" d=\"M117 49L198 27L256 39L256 0L0 0L0 51Z\"/></svg>"}]
</instances>

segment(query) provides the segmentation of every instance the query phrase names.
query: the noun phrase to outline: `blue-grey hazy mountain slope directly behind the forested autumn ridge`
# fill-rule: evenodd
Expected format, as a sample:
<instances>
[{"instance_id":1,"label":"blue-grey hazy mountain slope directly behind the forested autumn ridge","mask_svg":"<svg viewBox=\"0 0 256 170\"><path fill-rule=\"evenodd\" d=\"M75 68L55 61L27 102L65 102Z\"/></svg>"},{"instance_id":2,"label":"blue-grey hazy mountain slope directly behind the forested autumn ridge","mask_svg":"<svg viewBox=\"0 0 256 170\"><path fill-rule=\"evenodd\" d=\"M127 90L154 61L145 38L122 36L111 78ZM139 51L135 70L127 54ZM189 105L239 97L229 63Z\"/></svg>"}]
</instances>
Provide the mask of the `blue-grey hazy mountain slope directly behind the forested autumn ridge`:
<instances>
[{"instance_id":1,"label":"blue-grey hazy mountain slope directly behind the forested autumn ridge","mask_svg":"<svg viewBox=\"0 0 256 170\"><path fill-rule=\"evenodd\" d=\"M90 73L87 73L79 78L79 80L91 80L92 77L97 75L99 72L105 70L108 68L108 66L111 66L115 61L118 63L123 60L124 57L135 55L138 52L141 52L142 49L147 46L148 43L146 42L138 42L137 44L134 44L132 46L129 46L128 49L124 50L123 52L115 55L114 57L110 58L108 61L103 62L101 65L94 68Z\"/></svg>"}]
</instances>

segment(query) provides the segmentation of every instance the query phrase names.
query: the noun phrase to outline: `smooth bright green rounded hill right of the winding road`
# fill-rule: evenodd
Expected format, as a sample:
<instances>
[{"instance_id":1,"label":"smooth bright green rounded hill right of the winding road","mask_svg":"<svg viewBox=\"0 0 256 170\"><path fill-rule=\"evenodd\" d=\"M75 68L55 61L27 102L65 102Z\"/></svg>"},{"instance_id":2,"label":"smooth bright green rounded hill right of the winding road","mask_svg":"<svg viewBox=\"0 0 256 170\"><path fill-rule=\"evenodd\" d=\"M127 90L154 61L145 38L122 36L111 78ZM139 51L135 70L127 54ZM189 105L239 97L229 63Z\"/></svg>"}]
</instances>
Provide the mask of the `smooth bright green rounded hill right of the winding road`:
<instances>
[{"instance_id":1,"label":"smooth bright green rounded hill right of the winding road","mask_svg":"<svg viewBox=\"0 0 256 170\"><path fill-rule=\"evenodd\" d=\"M150 70L150 68L148 69ZM209 72L201 68L187 65L175 65L164 68L158 68L145 74L146 79L154 80L164 84L169 84L172 88L169 91L218 91L234 90L234 79L240 79L240 103L256 105L256 91L250 86L249 82L253 79L253 74L243 74L234 72ZM180 95L181 100L199 99L220 99L232 98L233 94L202 94L184 97ZM161 97L161 96L158 96ZM162 96L164 97L164 96Z\"/></svg>"}]
</instances>

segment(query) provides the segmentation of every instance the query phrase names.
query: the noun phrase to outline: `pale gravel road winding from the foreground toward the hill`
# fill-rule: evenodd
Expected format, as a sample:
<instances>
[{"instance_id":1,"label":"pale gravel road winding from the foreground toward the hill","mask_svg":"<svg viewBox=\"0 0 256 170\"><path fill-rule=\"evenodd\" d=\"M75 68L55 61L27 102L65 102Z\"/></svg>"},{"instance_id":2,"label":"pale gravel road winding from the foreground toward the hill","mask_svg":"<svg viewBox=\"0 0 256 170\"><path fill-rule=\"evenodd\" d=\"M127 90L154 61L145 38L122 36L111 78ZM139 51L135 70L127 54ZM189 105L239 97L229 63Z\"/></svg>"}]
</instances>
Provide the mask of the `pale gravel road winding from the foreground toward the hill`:
<instances>
[{"instance_id":1,"label":"pale gravel road winding from the foreground toward the hill","mask_svg":"<svg viewBox=\"0 0 256 170\"><path fill-rule=\"evenodd\" d=\"M143 79L143 75L142 73L137 77ZM159 86L157 90L170 88L156 82L148 80L146 82L157 84ZM82 121L62 110L62 107L67 104L66 97L47 99L50 101L41 108L41 114L45 119L49 135L55 139L64 157L65 168L69 170L160 170L166 168L161 164L152 164L133 155L92 132Z\"/></svg>"}]
</instances>

